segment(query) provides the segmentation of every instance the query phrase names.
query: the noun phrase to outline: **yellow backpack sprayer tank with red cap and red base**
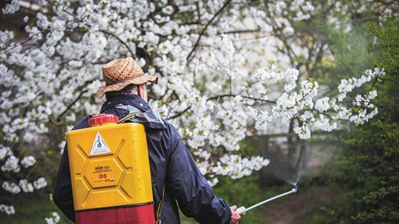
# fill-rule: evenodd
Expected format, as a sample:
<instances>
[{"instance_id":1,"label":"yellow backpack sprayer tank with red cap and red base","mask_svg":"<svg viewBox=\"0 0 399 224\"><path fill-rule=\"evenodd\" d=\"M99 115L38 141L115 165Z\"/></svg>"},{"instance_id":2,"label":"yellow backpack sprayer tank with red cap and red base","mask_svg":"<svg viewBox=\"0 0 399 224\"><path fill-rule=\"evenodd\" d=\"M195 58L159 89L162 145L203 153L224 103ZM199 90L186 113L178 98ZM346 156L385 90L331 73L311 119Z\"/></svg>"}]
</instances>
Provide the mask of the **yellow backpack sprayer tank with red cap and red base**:
<instances>
[{"instance_id":1,"label":"yellow backpack sprayer tank with red cap and red base","mask_svg":"<svg viewBox=\"0 0 399 224\"><path fill-rule=\"evenodd\" d=\"M96 115L67 132L77 224L154 224L146 133L139 123Z\"/></svg>"}]
</instances>

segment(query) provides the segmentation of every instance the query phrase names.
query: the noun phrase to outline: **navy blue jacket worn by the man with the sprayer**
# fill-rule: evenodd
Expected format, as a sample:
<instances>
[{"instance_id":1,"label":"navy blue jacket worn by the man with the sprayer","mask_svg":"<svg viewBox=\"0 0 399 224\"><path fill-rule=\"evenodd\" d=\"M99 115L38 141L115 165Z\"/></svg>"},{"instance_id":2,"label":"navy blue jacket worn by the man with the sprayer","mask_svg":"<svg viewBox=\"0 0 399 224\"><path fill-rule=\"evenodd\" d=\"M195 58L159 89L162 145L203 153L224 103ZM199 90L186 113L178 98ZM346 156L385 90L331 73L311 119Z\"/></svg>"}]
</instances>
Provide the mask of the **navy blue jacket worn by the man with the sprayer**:
<instances>
[{"instance_id":1,"label":"navy blue jacket worn by the man with the sprayer","mask_svg":"<svg viewBox=\"0 0 399 224\"><path fill-rule=\"evenodd\" d=\"M138 95L117 95L101 107L101 113L114 114L119 119L136 111L142 113L131 122L142 123L146 129L154 214L165 183L162 223L180 223L179 205L184 215L201 224L228 224L231 220L229 205L215 196L180 134L170 123L160 119ZM90 118L85 117L73 130L89 127L87 121ZM53 200L65 216L75 222L67 146L61 157Z\"/></svg>"}]
</instances>

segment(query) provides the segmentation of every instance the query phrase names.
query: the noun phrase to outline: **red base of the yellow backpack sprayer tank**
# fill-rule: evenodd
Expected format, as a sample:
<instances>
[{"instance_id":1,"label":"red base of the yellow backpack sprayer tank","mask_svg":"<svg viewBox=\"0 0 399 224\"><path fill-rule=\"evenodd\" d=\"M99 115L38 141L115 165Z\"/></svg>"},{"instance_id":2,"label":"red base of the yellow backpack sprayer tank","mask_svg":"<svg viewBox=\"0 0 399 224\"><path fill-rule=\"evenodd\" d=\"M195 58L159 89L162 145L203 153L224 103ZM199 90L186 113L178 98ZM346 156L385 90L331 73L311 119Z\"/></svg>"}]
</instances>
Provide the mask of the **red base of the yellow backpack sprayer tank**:
<instances>
[{"instance_id":1,"label":"red base of the yellow backpack sprayer tank","mask_svg":"<svg viewBox=\"0 0 399 224\"><path fill-rule=\"evenodd\" d=\"M75 211L76 224L154 224L153 204Z\"/></svg>"}]
</instances>

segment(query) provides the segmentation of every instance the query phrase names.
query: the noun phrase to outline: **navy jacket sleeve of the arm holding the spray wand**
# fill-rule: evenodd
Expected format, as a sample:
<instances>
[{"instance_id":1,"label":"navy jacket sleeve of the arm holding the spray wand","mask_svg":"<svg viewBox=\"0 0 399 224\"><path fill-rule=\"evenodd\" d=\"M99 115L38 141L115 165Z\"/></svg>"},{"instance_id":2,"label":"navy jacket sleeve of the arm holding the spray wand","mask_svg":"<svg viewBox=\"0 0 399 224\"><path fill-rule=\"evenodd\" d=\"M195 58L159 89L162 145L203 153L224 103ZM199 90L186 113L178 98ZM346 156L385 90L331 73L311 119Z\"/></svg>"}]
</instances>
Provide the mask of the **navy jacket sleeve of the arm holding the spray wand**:
<instances>
[{"instance_id":1,"label":"navy jacket sleeve of the arm holding the spray wand","mask_svg":"<svg viewBox=\"0 0 399 224\"><path fill-rule=\"evenodd\" d=\"M201 224L228 224L229 205L218 199L175 130L169 156L166 186L184 215Z\"/></svg>"}]
</instances>

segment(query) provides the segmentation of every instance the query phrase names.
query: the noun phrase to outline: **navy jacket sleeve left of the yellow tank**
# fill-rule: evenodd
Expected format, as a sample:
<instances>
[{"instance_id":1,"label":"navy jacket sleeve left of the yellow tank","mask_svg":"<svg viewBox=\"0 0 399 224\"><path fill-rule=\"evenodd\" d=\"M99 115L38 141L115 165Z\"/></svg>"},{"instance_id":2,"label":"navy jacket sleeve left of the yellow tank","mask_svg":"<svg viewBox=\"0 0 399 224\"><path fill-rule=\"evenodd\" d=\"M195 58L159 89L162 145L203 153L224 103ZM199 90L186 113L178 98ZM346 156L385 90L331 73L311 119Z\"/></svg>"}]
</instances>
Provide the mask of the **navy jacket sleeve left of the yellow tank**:
<instances>
[{"instance_id":1,"label":"navy jacket sleeve left of the yellow tank","mask_svg":"<svg viewBox=\"0 0 399 224\"><path fill-rule=\"evenodd\" d=\"M55 205L57 205L65 216L75 222L71 175L69 172L68 147L66 144L59 164L57 178L55 179L53 200Z\"/></svg>"}]
</instances>

